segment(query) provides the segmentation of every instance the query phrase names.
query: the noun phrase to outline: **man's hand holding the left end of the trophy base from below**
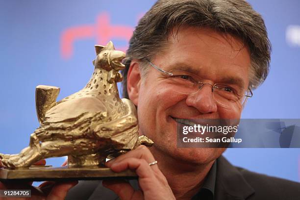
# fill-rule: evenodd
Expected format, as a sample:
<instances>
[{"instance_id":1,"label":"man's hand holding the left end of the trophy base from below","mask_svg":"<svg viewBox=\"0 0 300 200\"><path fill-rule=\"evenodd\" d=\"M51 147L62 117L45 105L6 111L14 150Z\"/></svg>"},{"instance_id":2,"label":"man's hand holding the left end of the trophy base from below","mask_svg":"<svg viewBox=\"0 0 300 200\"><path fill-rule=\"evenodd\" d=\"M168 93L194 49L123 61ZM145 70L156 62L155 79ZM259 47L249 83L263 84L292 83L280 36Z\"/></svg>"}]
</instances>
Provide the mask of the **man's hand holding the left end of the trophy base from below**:
<instances>
[{"instance_id":1,"label":"man's hand holding the left end of the trophy base from below","mask_svg":"<svg viewBox=\"0 0 300 200\"><path fill-rule=\"evenodd\" d=\"M46 165L46 160L40 160L34 165ZM0 161L0 168L2 163ZM31 185L32 182L9 182L1 183L0 190L31 190L31 198L23 198L24 200L64 200L68 191L77 184L77 181L70 182L53 182L46 181L39 187ZM0 200L2 200L0 198ZM13 200L13 199L11 199ZM22 200L22 198L18 198Z\"/></svg>"}]
</instances>

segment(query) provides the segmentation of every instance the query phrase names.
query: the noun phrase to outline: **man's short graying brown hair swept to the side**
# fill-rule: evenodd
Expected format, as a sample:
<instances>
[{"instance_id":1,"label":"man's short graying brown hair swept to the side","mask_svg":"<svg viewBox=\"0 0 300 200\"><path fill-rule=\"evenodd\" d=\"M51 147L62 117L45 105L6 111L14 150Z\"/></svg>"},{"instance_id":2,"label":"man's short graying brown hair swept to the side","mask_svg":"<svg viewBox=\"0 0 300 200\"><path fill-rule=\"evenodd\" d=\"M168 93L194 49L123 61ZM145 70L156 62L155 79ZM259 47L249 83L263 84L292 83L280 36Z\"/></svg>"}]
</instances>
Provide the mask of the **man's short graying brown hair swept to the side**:
<instances>
[{"instance_id":1,"label":"man's short graying brown hair swept to the side","mask_svg":"<svg viewBox=\"0 0 300 200\"><path fill-rule=\"evenodd\" d=\"M168 37L181 25L208 27L240 38L250 50L249 87L257 88L267 77L271 44L259 13L244 0L158 0L136 26L122 71L123 96L128 98L127 72L132 59L145 61L166 47ZM175 37L175 35L174 35ZM145 67L144 67L145 68ZM145 71L143 67L141 71ZM142 73L145 74L145 73Z\"/></svg>"}]
</instances>

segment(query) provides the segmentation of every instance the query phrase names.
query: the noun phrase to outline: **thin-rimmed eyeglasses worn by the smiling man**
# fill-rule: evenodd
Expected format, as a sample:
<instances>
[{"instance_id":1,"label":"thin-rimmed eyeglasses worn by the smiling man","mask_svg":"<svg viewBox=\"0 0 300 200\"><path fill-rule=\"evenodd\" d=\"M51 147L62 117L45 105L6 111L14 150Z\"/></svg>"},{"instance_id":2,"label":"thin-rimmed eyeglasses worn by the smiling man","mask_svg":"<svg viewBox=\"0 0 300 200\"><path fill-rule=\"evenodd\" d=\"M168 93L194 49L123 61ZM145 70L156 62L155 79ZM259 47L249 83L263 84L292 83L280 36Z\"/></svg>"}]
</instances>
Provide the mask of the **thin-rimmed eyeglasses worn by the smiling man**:
<instances>
[{"instance_id":1,"label":"thin-rimmed eyeglasses worn by the smiling man","mask_svg":"<svg viewBox=\"0 0 300 200\"><path fill-rule=\"evenodd\" d=\"M245 91L244 88L236 84L226 83L204 83L200 76L191 74L181 70L171 70L166 72L157 67L150 60L147 59L149 64L167 77L167 81L172 84L175 92L180 94L192 95L197 93L205 85L212 88L213 98L223 107L232 108L232 106L243 106L248 98L253 96L251 89Z\"/></svg>"}]
</instances>

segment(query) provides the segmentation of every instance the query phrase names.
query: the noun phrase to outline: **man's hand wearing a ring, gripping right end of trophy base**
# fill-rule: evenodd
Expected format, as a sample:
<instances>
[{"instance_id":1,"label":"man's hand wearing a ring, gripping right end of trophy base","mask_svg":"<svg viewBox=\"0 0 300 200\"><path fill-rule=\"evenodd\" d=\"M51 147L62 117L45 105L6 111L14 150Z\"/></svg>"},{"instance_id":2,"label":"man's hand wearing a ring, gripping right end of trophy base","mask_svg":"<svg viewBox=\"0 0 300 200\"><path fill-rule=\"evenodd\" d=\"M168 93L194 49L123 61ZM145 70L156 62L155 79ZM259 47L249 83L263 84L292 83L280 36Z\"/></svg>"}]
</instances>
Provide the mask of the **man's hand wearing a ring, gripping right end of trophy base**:
<instances>
[{"instance_id":1,"label":"man's hand wearing a ring, gripping right end of trophy base","mask_svg":"<svg viewBox=\"0 0 300 200\"><path fill-rule=\"evenodd\" d=\"M114 172L122 172L126 169L135 170L139 176L139 186L142 191L134 190L125 181L103 180L102 184L114 191L122 200L175 200L168 181L158 165L149 165L154 161L150 150L141 145L105 164Z\"/></svg>"}]
</instances>

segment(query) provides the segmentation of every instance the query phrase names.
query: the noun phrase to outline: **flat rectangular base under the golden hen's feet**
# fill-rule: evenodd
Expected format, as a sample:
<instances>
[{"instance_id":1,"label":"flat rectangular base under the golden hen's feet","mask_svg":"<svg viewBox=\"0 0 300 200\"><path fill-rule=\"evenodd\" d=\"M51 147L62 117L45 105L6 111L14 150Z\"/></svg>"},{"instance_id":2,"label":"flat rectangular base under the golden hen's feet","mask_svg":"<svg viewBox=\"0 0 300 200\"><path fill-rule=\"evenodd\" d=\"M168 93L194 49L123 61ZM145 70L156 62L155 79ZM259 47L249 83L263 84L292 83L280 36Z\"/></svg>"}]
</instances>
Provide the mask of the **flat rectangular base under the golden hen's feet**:
<instances>
[{"instance_id":1,"label":"flat rectangular base under the golden hen's feet","mask_svg":"<svg viewBox=\"0 0 300 200\"><path fill-rule=\"evenodd\" d=\"M135 172L126 170L115 173L109 168L98 166L30 167L28 169L0 169L0 181L64 181L137 179Z\"/></svg>"}]
</instances>

